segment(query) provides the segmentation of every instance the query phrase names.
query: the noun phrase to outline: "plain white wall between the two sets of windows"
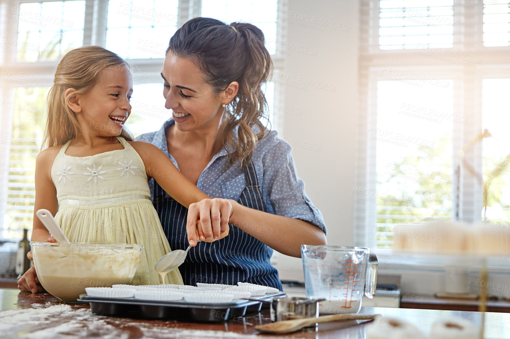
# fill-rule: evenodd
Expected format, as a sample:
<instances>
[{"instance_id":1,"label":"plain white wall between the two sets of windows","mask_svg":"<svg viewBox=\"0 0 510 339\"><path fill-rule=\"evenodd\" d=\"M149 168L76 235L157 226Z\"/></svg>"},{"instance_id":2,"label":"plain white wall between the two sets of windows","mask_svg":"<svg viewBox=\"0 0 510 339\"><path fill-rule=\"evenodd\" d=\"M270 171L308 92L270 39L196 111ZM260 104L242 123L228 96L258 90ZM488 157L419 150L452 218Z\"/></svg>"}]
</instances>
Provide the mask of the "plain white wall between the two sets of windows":
<instances>
[{"instance_id":1,"label":"plain white wall between the two sets of windows","mask_svg":"<svg viewBox=\"0 0 510 339\"><path fill-rule=\"evenodd\" d=\"M296 44L305 49L286 55L285 74L274 77L283 91L285 106L294 108L294 114L279 112L283 118L282 137L293 146L292 155L298 175L306 183L305 191L324 216L328 244L350 246L358 115L359 1L289 0L283 18L287 21L287 34L282 47ZM310 80L309 86L303 83ZM323 83L335 90L318 88ZM301 116L295 114L301 110ZM288 264L280 265L286 268L279 270L281 279L302 279L301 259L283 255L273 259Z\"/></svg>"}]
</instances>

